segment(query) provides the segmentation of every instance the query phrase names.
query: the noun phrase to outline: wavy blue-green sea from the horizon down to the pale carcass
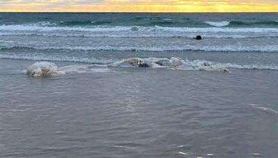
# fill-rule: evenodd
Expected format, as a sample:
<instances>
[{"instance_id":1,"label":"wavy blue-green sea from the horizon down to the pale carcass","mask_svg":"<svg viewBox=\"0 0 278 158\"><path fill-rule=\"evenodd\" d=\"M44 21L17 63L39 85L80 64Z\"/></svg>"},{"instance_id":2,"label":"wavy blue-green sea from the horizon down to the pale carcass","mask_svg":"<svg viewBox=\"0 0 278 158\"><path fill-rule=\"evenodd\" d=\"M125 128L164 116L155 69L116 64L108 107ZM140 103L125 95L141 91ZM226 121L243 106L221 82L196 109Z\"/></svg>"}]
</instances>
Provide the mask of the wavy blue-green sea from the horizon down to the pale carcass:
<instances>
[{"instance_id":1,"label":"wavy blue-green sea from the horizon down to the pale carcass","mask_svg":"<svg viewBox=\"0 0 278 158\"><path fill-rule=\"evenodd\" d=\"M277 13L1 13L0 58L107 64L123 58L179 57L233 69L278 69L277 17ZM196 35L203 40L193 40ZM251 59L240 58L246 56Z\"/></svg>"}]
</instances>

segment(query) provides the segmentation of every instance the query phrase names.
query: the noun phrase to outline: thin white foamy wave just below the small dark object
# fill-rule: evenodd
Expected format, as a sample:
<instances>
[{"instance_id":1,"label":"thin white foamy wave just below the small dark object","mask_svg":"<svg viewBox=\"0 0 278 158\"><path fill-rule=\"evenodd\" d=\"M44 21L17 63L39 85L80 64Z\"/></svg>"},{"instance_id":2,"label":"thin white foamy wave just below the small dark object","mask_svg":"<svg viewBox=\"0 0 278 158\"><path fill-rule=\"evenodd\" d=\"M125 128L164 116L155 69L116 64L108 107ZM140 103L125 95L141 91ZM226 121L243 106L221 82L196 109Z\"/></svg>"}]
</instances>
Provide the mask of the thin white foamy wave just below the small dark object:
<instances>
[{"instance_id":1,"label":"thin white foamy wave just below the small dark object","mask_svg":"<svg viewBox=\"0 0 278 158\"><path fill-rule=\"evenodd\" d=\"M18 45L18 44L17 44ZM221 52L277 52L278 45L219 45L219 46L3 46L1 51L11 50L69 50L69 51L221 51Z\"/></svg>"}]
</instances>

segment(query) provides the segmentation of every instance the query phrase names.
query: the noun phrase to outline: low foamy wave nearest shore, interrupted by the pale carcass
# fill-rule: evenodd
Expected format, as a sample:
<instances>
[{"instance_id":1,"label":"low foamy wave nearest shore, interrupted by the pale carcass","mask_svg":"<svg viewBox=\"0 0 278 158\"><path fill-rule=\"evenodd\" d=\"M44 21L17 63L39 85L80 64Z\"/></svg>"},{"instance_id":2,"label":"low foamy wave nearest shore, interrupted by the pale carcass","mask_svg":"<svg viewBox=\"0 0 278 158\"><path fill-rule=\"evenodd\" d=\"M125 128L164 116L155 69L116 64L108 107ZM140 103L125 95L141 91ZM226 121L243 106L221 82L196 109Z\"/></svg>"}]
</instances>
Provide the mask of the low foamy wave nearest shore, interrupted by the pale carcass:
<instances>
[{"instance_id":1,"label":"low foamy wave nearest shore, interrupted by the pale carcass","mask_svg":"<svg viewBox=\"0 0 278 158\"><path fill-rule=\"evenodd\" d=\"M106 59L95 59L95 58L80 58L80 57L70 57L70 56L50 56L43 54L36 55L17 55L16 53L0 54L0 59L15 59L15 60L34 60L34 61L60 61L60 62L83 62L90 64L99 64L99 67L106 67L107 64L116 62L119 59L106 60ZM223 62L213 62L207 60L187 60L186 64L199 65L200 63L210 63L213 67L227 67L230 69L261 69L261 70L278 70L277 64L237 64L237 63L223 63ZM186 65L185 64L185 65ZM125 67L125 66L124 66Z\"/></svg>"}]
</instances>

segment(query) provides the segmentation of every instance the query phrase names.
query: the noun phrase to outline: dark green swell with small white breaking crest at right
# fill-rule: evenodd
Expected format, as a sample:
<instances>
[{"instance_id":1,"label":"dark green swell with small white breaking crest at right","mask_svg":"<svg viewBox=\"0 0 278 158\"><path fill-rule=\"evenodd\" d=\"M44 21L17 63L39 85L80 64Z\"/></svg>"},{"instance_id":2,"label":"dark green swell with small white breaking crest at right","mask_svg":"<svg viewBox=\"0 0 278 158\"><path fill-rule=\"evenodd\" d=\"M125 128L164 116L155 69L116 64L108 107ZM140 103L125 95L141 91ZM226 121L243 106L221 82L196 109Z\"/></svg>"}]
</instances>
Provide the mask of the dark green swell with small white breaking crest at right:
<instances>
[{"instance_id":1,"label":"dark green swell with small white breaking crest at right","mask_svg":"<svg viewBox=\"0 0 278 158\"><path fill-rule=\"evenodd\" d=\"M39 21L36 26L188 26L188 27L275 27L278 26L278 21L195 21L193 19L129 19L122 21L120 19L106 21Z\"/></svg>"}]
</instances>

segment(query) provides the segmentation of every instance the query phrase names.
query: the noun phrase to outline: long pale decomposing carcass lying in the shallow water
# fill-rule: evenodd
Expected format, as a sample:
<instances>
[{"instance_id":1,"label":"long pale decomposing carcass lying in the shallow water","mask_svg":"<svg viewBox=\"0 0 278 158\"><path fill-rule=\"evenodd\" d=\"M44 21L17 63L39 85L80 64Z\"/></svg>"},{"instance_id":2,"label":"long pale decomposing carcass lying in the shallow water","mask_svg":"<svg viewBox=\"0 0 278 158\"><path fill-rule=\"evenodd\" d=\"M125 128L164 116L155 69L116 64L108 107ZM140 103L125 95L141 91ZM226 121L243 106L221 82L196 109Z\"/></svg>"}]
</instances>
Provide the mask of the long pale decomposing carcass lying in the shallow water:
<instances>
[{"instance_id":1,"label":"long pale decomposing carcass lying in the shallow water","mask_svg":"<svg viewBox=\"0 0 278 158\"><path fill-rule=\"evenodd\" d=\"M201 71L222 71L229 73L229 70L222 65L213 64L204 60L183 60L181 58L128 58L113 62L111 64L81 64L58 67L52 62L35 62L27 68L26 73L29 76L56 76L65 73L85 73L85 72L111 72L108 68L95 69L94 67L153 67L167 68L172 70L201 70Z\"/></svg>"}]
</instances>

